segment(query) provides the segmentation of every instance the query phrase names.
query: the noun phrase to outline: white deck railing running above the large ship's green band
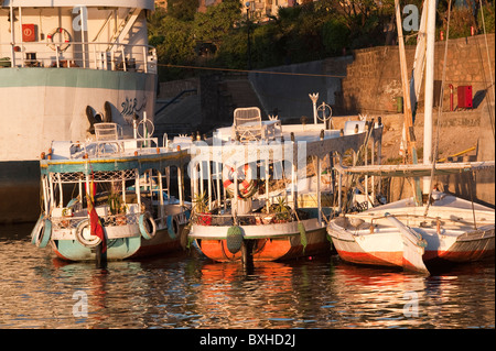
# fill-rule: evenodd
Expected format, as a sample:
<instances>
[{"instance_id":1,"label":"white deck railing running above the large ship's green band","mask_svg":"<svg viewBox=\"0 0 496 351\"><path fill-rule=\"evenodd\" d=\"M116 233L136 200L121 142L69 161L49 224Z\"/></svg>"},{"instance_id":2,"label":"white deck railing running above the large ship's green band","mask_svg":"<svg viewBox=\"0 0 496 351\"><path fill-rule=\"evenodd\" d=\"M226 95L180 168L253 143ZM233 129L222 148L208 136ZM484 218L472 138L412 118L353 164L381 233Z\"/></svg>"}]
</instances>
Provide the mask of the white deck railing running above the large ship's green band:
<instances>
[{"instance_id":1,"label":"white deck railing running above the large ship's green band","mask_svg":"<svg viewBox=\"0 0 496 351\"><path fill-rule=\"evenodd\" d=\"M112 48L108 51L110 44ZM1 67L74 67L155 74L157 50L150 45L109 42L0 43Z\"/></svg>"}]
</instances>

